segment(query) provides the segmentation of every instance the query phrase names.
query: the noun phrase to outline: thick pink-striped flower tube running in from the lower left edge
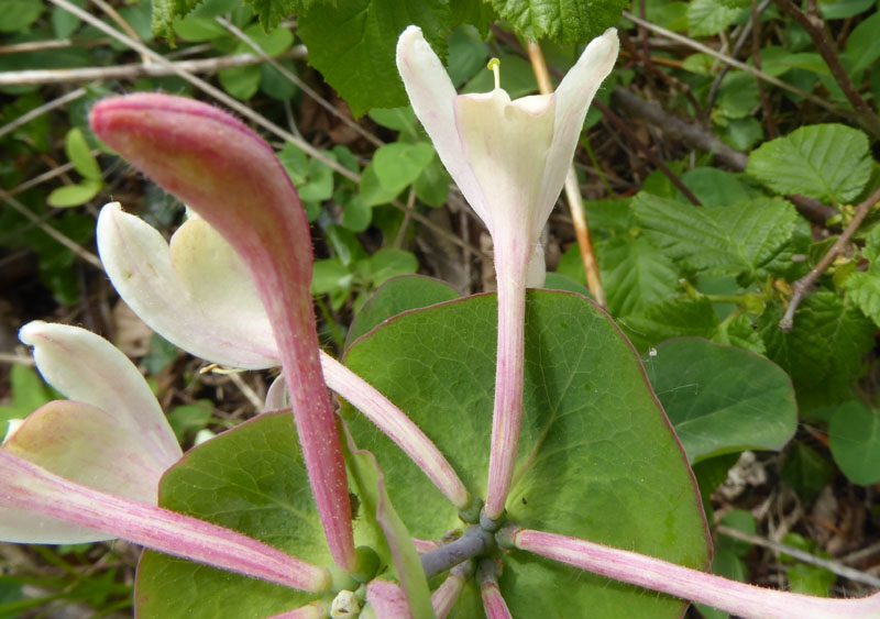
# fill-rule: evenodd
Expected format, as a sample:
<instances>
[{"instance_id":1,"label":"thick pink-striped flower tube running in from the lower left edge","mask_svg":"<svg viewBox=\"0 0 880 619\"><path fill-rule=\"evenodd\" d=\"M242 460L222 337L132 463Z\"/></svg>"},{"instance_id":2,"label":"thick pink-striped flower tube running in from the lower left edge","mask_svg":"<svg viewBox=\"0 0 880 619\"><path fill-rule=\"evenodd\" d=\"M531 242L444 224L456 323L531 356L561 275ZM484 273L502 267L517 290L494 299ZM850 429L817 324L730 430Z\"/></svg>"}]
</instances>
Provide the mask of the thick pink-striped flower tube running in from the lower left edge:
<instances>
[{"instance_id":1,"label":"thick pink-striped flower tube running in from the lower left edge","mask_svg":"<svg viewBox=\"0 0 880 619\"><path fill-rule=\"evenodd\" d=\"M75 484L3 450L0 469L6 506L304 592L321 593L331 585L324 567L230 529Z\"/></svg>"}]
</instances>

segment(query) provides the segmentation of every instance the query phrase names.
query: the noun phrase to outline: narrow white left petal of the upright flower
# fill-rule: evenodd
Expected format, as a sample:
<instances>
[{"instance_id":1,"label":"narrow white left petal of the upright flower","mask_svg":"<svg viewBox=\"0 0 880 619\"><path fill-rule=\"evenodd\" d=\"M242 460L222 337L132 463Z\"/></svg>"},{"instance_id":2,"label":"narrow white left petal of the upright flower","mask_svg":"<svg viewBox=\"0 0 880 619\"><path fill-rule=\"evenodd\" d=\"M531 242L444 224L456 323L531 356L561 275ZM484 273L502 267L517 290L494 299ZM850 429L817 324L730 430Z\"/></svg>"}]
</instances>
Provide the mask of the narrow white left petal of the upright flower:
<instances>
[{"instance_id":1,"label":"narrow white left petal of the upright flower","mask_svg":"<svg viewBox=\"0 0 880 619\"><path fill-rule=\"evenodd\" d=\"M397 40L397 70L404 79L413 110L433 142L437 155L452 175L476 214L488 225L483 190L464 159L452 101L455 87L421 29L407 27Z\"/></svg>"}]
</instances>

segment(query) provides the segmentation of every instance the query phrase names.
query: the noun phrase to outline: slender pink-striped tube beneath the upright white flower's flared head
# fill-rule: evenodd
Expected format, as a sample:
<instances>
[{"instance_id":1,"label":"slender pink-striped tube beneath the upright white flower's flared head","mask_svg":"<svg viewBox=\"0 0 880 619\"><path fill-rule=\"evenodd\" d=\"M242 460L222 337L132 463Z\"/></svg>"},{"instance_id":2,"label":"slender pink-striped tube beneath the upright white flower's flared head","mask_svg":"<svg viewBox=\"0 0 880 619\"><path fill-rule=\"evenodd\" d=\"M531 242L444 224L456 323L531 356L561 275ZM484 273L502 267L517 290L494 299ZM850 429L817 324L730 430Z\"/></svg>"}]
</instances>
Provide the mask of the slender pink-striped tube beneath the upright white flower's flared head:
<instances>
[{"instance_id":1,"label":"slender pink-striped tube beneath the upright white flower's flared head","mask_svg":"<svg viewBox=\"0 0 880 619\"><path fill-rule=\"evenodd\" d=\"M498 280L498 347L495 365L495 408L492 416L492 447L488 485L483 513L494 521L504 513L510 490L519 425L522 418L522 372L526 333L526 265L530 251L507 243L495 246ZM525 254L525 255L522 255Z\"/></svg>"}]
</instances>

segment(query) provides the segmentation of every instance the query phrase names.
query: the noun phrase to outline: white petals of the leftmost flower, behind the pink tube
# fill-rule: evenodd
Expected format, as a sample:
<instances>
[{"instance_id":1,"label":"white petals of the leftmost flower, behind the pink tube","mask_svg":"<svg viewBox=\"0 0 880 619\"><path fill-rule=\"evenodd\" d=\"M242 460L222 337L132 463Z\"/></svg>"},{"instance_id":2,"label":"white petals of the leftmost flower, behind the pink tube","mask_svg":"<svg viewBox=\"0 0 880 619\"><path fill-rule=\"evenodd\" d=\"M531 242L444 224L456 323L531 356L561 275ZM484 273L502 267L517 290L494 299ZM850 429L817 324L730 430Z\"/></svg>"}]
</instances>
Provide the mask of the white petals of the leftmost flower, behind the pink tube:
<instances>
[{"instance_id":1,"label":"white petals of the leftmost flower, behind the pink tube","mask_svg":"<svg viewBox=\"0 0 880 619\"><path fill-rule=\"evenodd\" d=\"M50 402L10 428L2 451L72 482L155 506L162 474L183 452L134 364L103 338L77 327L34 321L21 329L19 338L33 346L46 383L70 399ZM0 507L3 541L78 543L111 538Z\"/></svg>"}]
</instances>

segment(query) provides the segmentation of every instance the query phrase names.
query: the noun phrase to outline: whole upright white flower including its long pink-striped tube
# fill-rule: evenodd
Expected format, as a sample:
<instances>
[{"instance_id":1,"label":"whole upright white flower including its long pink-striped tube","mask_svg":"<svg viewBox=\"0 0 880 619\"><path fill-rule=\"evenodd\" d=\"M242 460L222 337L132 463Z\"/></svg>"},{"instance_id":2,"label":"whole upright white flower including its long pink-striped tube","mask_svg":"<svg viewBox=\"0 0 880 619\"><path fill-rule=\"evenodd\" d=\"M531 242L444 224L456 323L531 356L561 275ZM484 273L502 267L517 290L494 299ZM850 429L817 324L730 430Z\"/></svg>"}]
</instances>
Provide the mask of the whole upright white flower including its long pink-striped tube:
<instances>
[{"instance_id":1,"label":"whole upright white flower including its long pink-striped tube","mask_svg":"<svg viewBox=\"0 0 880 619\"><path fill-rule=\"evenodd\" d=\"M617 47L616 31L608 29L587 45L556 92L512 101L497 73L491 92L457 95L420 29L409 26L397 42L397 68L413 109L494 243L498 347L484 508L490 528L504 512L519 443L525 289L542 284L538 235Z\"/></svg>"}]
</instances>

